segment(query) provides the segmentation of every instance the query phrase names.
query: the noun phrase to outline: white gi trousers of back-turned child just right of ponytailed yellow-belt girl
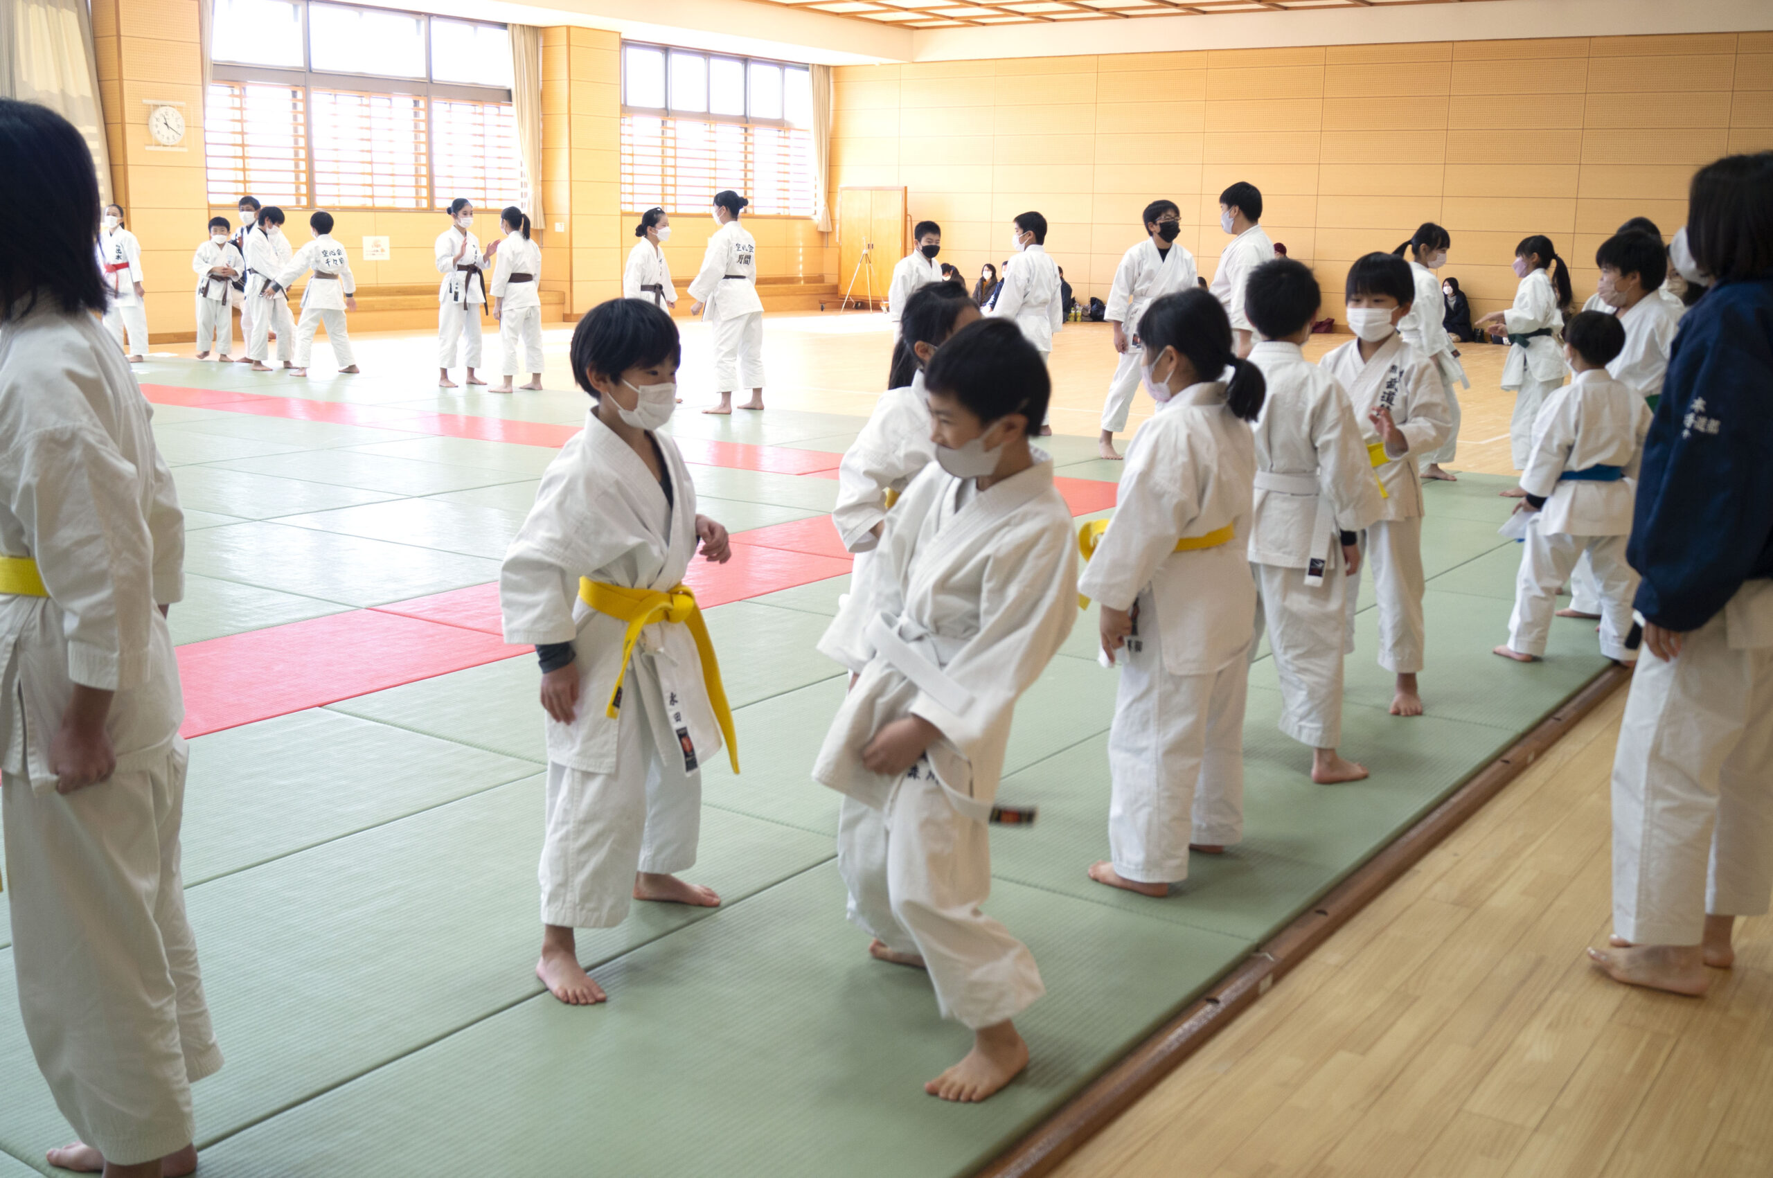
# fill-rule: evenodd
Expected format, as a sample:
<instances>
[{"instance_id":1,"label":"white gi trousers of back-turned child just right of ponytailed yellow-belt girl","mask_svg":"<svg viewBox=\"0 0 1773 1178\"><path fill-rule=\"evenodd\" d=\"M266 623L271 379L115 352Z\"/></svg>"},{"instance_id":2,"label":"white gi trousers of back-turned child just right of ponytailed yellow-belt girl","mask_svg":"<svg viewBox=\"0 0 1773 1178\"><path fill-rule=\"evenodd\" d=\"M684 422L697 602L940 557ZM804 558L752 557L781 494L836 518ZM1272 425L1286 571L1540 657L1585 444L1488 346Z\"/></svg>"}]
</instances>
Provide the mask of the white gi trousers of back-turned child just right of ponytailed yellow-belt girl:
<instances>
[{"instance_id":1,"label":"white gi trousers of back-turned child just right of ponytailed yellow-belt girl","mask_svg":"<svg viewBox=\"0 0 1773 1178\"><path fill-rule=\"evenodd\" d=\"M1342 743L1342 658L1349 577L1342 546L1330 546L1324 584L1307 585L1305 569L1250 564L1255 577L1255 656L1262 628L1280 676L1280 731L1312 749ZM1195 839L1197 843L1200 839Z\"/></svg>"}]
</instances>

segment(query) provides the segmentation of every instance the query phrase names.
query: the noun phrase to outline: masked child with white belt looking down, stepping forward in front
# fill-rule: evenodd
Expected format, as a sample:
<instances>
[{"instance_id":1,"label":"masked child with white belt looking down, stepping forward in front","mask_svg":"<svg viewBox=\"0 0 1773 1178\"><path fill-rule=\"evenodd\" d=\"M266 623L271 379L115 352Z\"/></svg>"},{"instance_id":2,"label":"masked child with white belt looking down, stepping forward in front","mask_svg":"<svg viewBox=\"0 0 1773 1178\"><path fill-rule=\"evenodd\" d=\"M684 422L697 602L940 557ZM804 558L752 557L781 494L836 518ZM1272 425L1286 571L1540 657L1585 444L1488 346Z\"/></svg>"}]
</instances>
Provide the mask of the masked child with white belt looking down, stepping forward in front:
<instances>
[{"instance_id":1,"label":"masked child with white belt looking down, stepping forward in front","mask_svg":"<svg viewBox=\"0 0 1773 1178\"><path fill-rule=\"evenodd\" d=\"M943 1017L973 1031L924 1086L966 1102L1027 1066L1011 1020L1044 993L1028 947L979 905L1011 717L1071 632L1076 555L1053 463L1028 444L1050 381L1021 332L961 328L926 389L936 461L819 640L856 679L812 775L846 795L837 864L869 953L927 969Z\"/></svg>"}]
</instances>

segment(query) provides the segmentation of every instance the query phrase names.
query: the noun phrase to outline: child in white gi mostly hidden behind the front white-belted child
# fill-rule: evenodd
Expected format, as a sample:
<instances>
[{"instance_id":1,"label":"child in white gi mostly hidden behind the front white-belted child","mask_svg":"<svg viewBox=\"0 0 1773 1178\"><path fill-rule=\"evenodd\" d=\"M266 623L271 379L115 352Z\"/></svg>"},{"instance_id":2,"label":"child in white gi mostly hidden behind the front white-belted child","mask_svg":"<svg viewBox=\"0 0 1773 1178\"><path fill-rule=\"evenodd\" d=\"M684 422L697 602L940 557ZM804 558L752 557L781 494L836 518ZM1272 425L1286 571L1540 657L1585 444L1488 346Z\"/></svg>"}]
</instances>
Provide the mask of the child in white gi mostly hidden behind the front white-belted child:
<instances>
[{"instance_id":1,"label":"child in white gi mostly hidden behind the front white-belted child","mask_svg":"<svg viewBox=\"0 0 1773 1178\"><path fill-rule=\"evenodd\" d=\"M977 319L979 305L959 282L936 282L906 300L899 319L902 335L894 346L894 369L886 378L892 387L874 403L869 424L837 467L832 523L844 548L856 554L849 573L853 589L865 580L892 504L936 456L936 444L929 438L924 369L950 335Z\"/></svg>"}]
</instances>

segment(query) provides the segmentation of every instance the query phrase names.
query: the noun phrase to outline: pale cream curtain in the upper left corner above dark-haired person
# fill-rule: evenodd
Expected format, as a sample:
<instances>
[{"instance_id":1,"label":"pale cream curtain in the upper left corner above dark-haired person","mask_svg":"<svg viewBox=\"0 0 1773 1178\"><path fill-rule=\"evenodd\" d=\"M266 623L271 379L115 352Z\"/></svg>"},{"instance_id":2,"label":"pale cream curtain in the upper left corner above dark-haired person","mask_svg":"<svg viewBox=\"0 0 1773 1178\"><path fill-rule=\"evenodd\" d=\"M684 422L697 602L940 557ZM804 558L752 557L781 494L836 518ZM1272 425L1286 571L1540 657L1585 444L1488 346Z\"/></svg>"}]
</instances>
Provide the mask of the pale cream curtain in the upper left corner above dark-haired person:
<instances>
[{"instance_id":1,"label":"pale cream curtain in the upper left corner above dark-haired person","mask_svg":"<svg viewBox=\"0 0 1773 1178\"><path fill-rule=\"evenodd\" d=\"M92 147L99 200L112 199L87 0L0 0L0 94L48 106L73 122Z\"/></svg>"}]
</instances>

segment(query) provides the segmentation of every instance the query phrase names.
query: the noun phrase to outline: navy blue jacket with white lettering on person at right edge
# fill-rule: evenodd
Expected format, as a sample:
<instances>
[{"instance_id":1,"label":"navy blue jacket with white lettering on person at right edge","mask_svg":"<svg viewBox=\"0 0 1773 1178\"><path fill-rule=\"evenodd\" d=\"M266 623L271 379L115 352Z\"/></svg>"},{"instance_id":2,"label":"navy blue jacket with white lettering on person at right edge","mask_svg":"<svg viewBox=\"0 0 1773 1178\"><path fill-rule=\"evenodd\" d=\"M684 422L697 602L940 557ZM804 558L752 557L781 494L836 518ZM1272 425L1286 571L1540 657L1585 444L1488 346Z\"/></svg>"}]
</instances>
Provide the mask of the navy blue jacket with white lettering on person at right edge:
<instances>
[{"instance_id":1,"label":"navy blue jacket with white lettering on person at right edge","mask_svg":"<svg viewBox=\"0 0 1773 1178\"><path fill-rule=\"evenodd\" d=\"M1773 577L1773 275L1722 284L1681 319L1626 557L1638 612L1667 630Z\"/></svg>"}]
</instances>

